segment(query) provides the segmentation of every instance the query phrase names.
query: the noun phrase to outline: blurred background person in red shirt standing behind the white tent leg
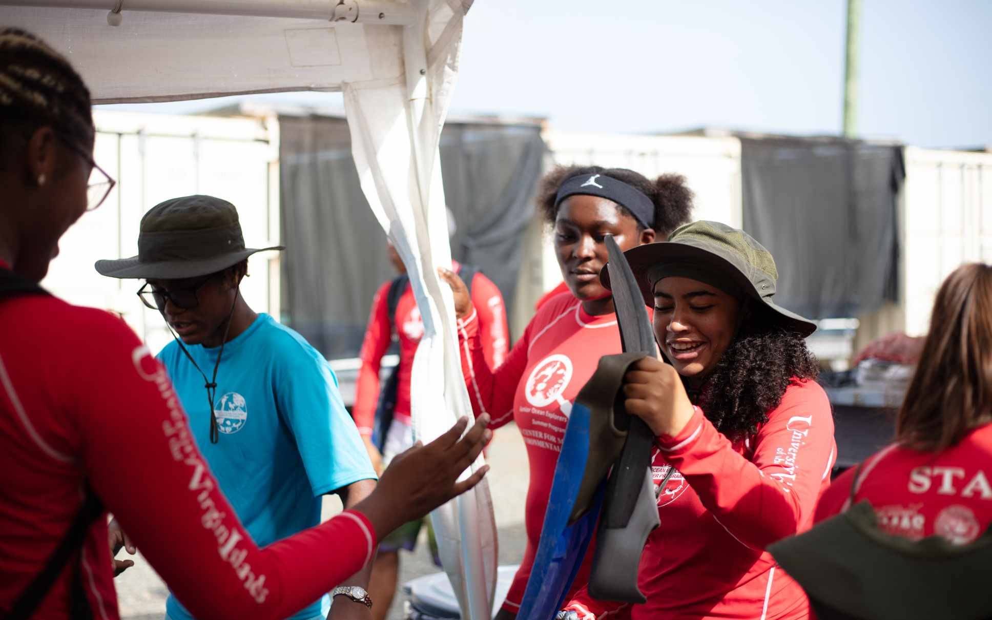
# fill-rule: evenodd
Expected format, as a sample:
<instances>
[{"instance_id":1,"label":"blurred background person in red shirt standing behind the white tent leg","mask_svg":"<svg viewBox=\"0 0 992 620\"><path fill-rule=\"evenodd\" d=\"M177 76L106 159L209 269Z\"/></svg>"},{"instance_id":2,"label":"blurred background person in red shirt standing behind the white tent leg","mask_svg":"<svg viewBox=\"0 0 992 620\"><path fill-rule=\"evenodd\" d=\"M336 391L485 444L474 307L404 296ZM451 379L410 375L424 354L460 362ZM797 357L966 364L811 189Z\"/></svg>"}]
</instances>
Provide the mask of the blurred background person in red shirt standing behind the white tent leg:
<instances>
[{"instance_id":1,"label":"blurred background person in red shirt standing behind the white tent leg","mask_svg":"<svg viewBox=\"0 0 992 620\"><path fill-rule=\"evenodd\" d=\"M451 212L448 211L449 236L453 232L454 219ZM400 276L384 283L376 292L372 302L372 311L369 316L368 327L365 330L365 339L362 342L360 353L362 365L358 371L355 404L352 408L358 433L365 440L365 447L368 449L369 457L377 470L381 469L383 464L388 465L393 457L414 443L413 421L410 418L410 380L417 345L424 335L424 322L421 319L420 310L417 309L417 301L414 299L414 290L410 286L410 279L406 276L407 269L396 249L391 244L387 244L387 248L389 260L396 271L400 273ZM481 272L453 261L452 263L455 272L463 273L466 277L471 275L472 306L479 316L479 328L483 336L482 346L486 363L495 368L503 363L509 348L509 333L503 296L496 285ZM397 287L402 288L397 289ZM392 313L390 310L393 310ZM391 393L382 395L385 398L380 398L382 390L380 389L379 370L382 365L382 357L389 349L394 337L399 341L400 361L393 370L396 376L382 387L382 390L388 390ZM392 407L392 412L379 413L380 416L392 414L391 421L379 425L380 431L384 434L383 437L377 437L379 445L376 445L372 438L373 428L377 424L375 420L377 404L379 407ZM399 581L399 551L401 549L413 551L416 548L417 537L425 521L425 519L418 519L407 523L379 542L379 553L372 565L372 575L369 580L369 593L372 600L379 602L372 609L374 620L385 620ZM437 558L434 532L431 530L430 521L428 521L428 534L434 563L439 566L440 559Z\"/></svg>"}]
</instances>

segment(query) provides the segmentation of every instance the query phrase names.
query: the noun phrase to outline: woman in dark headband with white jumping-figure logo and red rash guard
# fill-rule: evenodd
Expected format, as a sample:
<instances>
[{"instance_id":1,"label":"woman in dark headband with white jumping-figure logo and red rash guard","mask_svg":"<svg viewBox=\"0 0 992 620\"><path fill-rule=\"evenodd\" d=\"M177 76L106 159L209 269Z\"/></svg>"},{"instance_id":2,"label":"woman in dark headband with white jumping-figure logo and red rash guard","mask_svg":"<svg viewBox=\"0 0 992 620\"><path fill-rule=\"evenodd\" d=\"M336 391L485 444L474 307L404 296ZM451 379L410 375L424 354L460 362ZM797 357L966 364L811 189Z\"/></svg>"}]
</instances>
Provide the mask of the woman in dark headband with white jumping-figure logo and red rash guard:
<instances>
[{"instance_id":1,"label":"woman in dark headband with white jumping-figure logo and red rash guard","mask_svg":"<svg viewBox=\"0 0 992 620\"><path fill-rule=\"evenodd\" d=\"M558 452L571 403L601 355L620 352L613 299L599 282L604 235L629 249L668 235L686 221L692 193L678 175L651 181L626 169L559 167L545 177L538 206L555 227L558 266L568 291L548 301L527 325L506 362L493 370L484 355L477 311L450 272L459 322L462 371L476 414L493 426L511 421L524 435L530 464L525 504L527 547L497 619L516 616L541 539ZM588 575L592 548L576 581ZM570 592L569 592L570 593Z\"/></svg>"}]
</instances>

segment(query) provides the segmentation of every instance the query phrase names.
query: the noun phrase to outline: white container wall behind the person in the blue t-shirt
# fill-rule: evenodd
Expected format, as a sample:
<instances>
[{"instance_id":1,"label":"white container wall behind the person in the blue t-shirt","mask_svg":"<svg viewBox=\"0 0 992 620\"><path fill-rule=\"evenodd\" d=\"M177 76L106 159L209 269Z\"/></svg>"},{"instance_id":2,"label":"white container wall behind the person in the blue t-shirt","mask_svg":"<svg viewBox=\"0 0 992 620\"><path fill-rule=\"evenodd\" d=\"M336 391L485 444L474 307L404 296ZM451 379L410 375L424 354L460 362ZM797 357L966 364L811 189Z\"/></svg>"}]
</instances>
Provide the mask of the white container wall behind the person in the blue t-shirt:
<instances>
[{"instance_id":1,"label":"white container wall behind the person in the blue t-shirt","mask_svg":"<svg viewBox=\"0 0 992 620\"><path fill-rule=\"evenodd\" d=\"M94 159L117 181L106 201L62 236L42 285L71 304L119 313L153 352L172 335L135 295L143 281L105 278L99 259L138 253L142 216L168 198L206 193L238 209L248 247L278 245L279 132L274 119L94 110ZM256 311L279 318L279 253L249 259L241 285Z\"/></svg>"}]
</instances>

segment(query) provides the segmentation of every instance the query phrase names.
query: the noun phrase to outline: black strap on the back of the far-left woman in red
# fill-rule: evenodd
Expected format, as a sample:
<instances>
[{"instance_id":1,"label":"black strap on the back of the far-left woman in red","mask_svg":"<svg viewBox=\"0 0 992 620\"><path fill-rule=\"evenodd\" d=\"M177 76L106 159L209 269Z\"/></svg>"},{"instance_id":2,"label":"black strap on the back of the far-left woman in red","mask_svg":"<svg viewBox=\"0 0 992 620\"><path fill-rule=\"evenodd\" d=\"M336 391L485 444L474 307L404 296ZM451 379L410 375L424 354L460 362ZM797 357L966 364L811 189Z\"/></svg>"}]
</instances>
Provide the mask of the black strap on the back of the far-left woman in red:
<instances>
[{"instance_id":1,"label":"black strap on the back of the far-left woman in red","mask_svg":"<svg viewBox=\"0 0 992 620\"><path fill-rule=\"evenodd\" d=\"M42 571L28 584L28 587L21 591L17 600L11 605L10 612L5 616L5 620L23 620L30 618L35 613L35 610L45 600L45 596L52 589L52 586L55 585L56 580L59 579L59 575L62 574L65 564L76 554L81 554L82 544L86 540L86 534L89 532L90 526L102 514L103 504L100 502L100 498L93 493L89 485L86 485L86 497L82 502L82 508L76 514L72 525L68 528L68 532L65 533L56 551L49 556ZM70 590L71 617L73 620L76 618L85 620L92 617L85 591L82 588L82 575L78 572L79 563L81 563L81 560L76 562L76 574L74 575Z\"/></svg>"}]
</instances>

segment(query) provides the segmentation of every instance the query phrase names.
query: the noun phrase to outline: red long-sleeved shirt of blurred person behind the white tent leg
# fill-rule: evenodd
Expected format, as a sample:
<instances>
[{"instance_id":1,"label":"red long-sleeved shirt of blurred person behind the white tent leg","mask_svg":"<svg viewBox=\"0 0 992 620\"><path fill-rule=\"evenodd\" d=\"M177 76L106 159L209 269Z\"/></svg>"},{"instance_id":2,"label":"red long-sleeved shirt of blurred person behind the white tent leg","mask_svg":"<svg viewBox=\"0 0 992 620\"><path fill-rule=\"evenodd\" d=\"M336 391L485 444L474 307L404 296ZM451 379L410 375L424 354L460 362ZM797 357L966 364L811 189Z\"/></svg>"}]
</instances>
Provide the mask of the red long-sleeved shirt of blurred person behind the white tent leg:
<instances>
[{"instance_id":1,"label":"red long-sleeved shirt of blurred person behind the white tent leg","mask_svg":"<svg viewBox=\"0 0 992 620\"><path fill-rule=\"evenodd\" d=\"M455 263L454 269L457 272L460 266ZM393 325L396 325L396 333L400 339L400 363L396 369L400 373L400 383L397 386L393 415L397 420L410 424L410 377L414 367L414 354L417 353L417 345L424 335L424 322L421 320L420 310L417 310L414 290L409 285L396 306L396 316L390 320L390 284L391 282L387 282L376 292L360 354L362 366L355 385L352 416L358 432L365 436L372 434L379 400L379 369L382 356L386 354L393 339ZM472 279L472 306L479 316L486 363L495 368L503 363L509 348L506 308L499 289L479 272Z\"/></svg>"}]
</instances>

